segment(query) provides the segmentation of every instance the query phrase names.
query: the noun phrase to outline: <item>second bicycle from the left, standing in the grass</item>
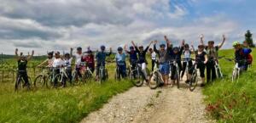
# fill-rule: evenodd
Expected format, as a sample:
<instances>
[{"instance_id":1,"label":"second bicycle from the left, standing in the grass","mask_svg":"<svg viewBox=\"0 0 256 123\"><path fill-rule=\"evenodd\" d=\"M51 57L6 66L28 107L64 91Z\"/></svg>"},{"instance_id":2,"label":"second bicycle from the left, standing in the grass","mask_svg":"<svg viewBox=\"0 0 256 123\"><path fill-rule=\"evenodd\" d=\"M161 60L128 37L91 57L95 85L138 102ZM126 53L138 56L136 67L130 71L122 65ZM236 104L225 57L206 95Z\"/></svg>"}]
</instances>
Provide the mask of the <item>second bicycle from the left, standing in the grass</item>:
<instances>
[{"instance_id":1,"label":"second bicycle from the left, standing in the grass","mask_svg":"<svg viewBox=\"0 0 256 123\"><path fill-rule=\"evenodd\" d=\"M35 78L34 87L48 87L48 80L52 80L52 71L47 67L41 67L42 72Z\"/></svg>"}]
</instances>

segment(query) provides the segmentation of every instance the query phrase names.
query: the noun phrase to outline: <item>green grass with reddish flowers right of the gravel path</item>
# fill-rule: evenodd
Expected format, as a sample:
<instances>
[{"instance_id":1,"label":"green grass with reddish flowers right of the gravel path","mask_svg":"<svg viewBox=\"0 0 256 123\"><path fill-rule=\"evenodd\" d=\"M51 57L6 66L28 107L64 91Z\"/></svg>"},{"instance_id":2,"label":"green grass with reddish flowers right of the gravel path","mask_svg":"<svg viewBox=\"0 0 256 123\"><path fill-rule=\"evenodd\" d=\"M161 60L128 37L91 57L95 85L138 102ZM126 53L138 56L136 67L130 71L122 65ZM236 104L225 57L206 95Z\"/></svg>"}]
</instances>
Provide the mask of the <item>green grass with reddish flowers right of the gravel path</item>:
<instances>
[{"instance_id":1,"label":"green grass with reddish flowers right of the gravel path","mask_svg":"<svg viewBox=\"0 0 256 123\"><path fill-rule=\"evenodd\" d=\"M255 49L254 49L255 50ZM220 56L234 56L234 50L222 50ZM256 58L256 54L253 54ZM256 70L253 67L243 73L237 82L231 82L234 63L220 60L224 80L214 81L204 88L207 111L218 122L256 122Z\"/></svg>"}]
</instances>

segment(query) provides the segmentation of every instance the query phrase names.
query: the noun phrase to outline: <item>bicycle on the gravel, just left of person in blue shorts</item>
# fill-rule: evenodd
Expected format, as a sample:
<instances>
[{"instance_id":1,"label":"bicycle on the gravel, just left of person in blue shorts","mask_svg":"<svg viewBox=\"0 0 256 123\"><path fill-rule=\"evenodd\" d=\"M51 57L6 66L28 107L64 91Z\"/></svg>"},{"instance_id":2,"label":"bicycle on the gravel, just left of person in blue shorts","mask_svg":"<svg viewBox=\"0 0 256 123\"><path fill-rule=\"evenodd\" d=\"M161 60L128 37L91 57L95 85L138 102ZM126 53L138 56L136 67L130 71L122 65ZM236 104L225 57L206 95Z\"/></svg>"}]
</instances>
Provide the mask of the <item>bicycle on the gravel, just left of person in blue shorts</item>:
<instances>
[{"instance_id":1,"label":"bicycle on the gravel, just left of person in blue shorts","mask_svg":"<svg viewBox=\"0 0 256 123\"><path fill-rule=\"evenodd\" d=\"M161 84L164 84L164 80L162 78L158 65L159 62L158 60L156 60L154 64L154 70L150 75L150 81L148 83L150 89L156 89L157 87L160 87Z\"/></svg>"}]
</instances>

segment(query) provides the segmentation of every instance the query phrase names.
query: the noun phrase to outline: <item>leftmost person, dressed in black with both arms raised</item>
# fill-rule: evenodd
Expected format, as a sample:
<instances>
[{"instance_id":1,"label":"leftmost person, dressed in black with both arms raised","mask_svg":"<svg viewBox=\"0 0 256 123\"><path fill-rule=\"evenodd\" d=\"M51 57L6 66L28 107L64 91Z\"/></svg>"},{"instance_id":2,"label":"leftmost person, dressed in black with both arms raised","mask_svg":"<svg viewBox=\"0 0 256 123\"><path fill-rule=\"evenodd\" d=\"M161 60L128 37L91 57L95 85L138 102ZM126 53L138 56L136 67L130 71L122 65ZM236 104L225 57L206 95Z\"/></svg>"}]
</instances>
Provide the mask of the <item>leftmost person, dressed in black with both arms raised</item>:
<instances>
[{"instance_id":1,"label":"leftmost person, dressed in black with both arms raised","mask_svg":"<svg viewBox=\"0 0 256 123\"><path fill-rule=\"evenodd\" d=\"M26 86L28 88L30 88L30 83L28 81L26 66L27 66L27 62L32 59L33 55L34 55L34 51L32 50L32 55L28 55L26 57L23 53L20 53L20 56L19 56L18 55L18 48L15 49L15 57L16 57L17 62L18 62L17 80L18 80L18 76L20 76L25 82L23 86ZM15 89L17 89L17 88L18 88L18 84L16 82L15 83Z\"/></svg>"}]
</instances>

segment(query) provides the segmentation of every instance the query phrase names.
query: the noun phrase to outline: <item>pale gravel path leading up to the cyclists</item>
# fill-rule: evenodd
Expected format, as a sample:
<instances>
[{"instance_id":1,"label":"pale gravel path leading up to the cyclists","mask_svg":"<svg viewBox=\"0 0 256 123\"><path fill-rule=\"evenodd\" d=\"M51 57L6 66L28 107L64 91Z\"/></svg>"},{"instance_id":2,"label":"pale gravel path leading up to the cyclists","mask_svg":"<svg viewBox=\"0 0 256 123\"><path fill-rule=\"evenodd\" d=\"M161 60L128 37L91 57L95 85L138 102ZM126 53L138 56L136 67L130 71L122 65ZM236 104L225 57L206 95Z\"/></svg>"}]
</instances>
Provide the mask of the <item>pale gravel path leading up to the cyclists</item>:
<instances>
[{"instance_id":1,"label":"pale gravel path leading up to the cyclists","mask_svg":"<svg viewBox=\"0 0 256 123\"><path fill-rule=\"evenodd\" d=\"M132 87L109 100L82 123L207 123L201 88Z\"/></svg>"}]
</instances>

